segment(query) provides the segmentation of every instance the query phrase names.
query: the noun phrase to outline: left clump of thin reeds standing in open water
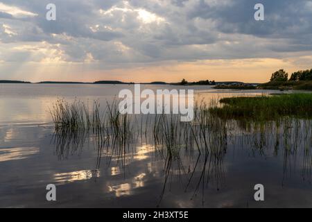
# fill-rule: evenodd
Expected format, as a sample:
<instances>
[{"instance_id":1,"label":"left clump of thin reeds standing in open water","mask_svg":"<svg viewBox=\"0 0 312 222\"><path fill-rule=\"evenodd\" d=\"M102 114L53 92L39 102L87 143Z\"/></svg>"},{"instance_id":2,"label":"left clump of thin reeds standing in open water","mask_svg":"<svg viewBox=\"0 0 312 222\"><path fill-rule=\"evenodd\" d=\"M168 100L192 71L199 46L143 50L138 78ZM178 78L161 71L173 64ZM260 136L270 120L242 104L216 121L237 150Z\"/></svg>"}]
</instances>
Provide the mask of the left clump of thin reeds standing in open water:
<instances>
[{"instance_id":1,"label":"left clump of thin reeds standing in open water","mask_svg":"<svg viewBox=\"0 0 312 222\"><path fill-rule=\"evenodd\" d=\"M62 156L68 155L70 149L77 150L78 146L83 146L89 137L93 137L99 150L110 146L119 154L125 153L126 145L132 141L130 117L119 113L116 101L101 110L98 101L94 101L92 108L89 108L83 101L68 103L58 99L50 113L55 124L54 139L58 154Z\"/></svg>"}]
</instances>

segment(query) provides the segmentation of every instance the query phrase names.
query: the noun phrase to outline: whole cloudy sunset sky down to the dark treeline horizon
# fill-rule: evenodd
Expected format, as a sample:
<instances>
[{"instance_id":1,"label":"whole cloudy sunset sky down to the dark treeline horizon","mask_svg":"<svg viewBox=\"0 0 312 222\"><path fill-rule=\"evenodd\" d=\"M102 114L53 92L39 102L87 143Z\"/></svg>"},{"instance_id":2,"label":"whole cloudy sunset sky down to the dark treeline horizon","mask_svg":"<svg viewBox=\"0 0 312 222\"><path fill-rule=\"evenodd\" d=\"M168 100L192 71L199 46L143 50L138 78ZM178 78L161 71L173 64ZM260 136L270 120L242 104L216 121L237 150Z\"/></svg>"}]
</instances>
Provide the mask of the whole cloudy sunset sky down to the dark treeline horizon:
<instances>
[{"instance_id":1,"label":"whole cloudy sunset sky down to the dark treeline horizon","mask_svg":"<svg viewBox=\"0 0 312 222\"><path fill-rule=\"evenodd\" d=\"M311 50L306 0L0 0L0 79L263 83Z\"/></svg>"}]
</instances>

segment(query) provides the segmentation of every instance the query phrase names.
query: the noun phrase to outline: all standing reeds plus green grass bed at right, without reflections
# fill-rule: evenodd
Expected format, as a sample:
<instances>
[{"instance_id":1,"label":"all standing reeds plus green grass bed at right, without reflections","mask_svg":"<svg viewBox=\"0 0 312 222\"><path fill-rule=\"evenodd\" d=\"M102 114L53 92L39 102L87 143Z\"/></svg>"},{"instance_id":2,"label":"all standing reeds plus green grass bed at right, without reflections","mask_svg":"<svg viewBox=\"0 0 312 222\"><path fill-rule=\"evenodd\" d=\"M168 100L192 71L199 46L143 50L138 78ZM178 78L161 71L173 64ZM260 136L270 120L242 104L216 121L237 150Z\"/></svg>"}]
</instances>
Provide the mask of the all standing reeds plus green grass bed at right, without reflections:
<instances>
[{"instance_id":1,"label":"all standing reeds plus green grass bed at right, without reflections","mask_svg":"<svg viewBox=\"0 0 312 222\"><path fill-rule=\"evenodd\" d=\"M149 144L163 157L177 159L181 150L193 150L203 155L215 155L223 157L227 151L227 142L232 133L232 128L243 128L252 131L253 144L258 147L266 146L266 137L261 132L272 131L268 127L279 128L281 121L284 127L284 137L289 137L288 128L297 124L288 120L292 117L312 117L312 94L283 94L274 96L237 97L221 99L219 105L216 100L209 104L196 104L194 119L190 123L180 121L179 115L155 114L141 118L138 123L136 118L129 114L119 112L118 101L107 103L106 109L101 110L98 101L94 101L93 107L81 101L67 103L62 99L51 109L51 115L55 123L55 131L60 135L87 134L92 131L96 135L98 146L110 146L112 151L125 156L131 144L134 144L137 136L152 136ZM233 123L231 119L238 119ZM287 121L288 120L288 121ZM275 123L270 125L270 121ZM259 133L257 133L259 132ZM298 132L292 132L298 135ZM75 135L76 134L76 135ZM299 139L298 137L295 139ZM277 141L277 143L280 143ZM293 147L284 143L284 146ZM116 149L115 149L116 148Z\"/></svg>"}]
</instances>

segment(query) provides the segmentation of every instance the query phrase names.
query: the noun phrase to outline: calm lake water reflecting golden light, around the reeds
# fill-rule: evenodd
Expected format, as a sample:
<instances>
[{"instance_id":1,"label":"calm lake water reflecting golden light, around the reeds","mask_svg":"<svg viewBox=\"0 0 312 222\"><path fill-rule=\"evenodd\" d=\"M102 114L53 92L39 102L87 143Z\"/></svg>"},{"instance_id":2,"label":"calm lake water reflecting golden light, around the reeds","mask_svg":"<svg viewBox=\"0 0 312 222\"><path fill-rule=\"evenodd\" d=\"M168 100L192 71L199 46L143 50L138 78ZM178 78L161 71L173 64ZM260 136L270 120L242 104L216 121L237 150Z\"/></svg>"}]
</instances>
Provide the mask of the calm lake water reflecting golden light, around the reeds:
<instances>
[{"instance_id":1,"label":"calm lake water reflecting golden light, around the reeds","mask_svg":"<svg viewBox=\"0 0 312 222\"><path fill-rule=\"evenodd\" d=\"M283 133L232 123L221 157L193 148L175 160L148 139L137 139L121 160L99 153L94 137L55 137L49 108L58 98L104 107L124 87L130 86L0 84L0 207L312 207L311 129L302 121ZM198 100L274 92L193 88ZM261 203L254 201L259 183ZM56 202L46 201L48 184L57 186Z\"/></svg>"}]
</instances>

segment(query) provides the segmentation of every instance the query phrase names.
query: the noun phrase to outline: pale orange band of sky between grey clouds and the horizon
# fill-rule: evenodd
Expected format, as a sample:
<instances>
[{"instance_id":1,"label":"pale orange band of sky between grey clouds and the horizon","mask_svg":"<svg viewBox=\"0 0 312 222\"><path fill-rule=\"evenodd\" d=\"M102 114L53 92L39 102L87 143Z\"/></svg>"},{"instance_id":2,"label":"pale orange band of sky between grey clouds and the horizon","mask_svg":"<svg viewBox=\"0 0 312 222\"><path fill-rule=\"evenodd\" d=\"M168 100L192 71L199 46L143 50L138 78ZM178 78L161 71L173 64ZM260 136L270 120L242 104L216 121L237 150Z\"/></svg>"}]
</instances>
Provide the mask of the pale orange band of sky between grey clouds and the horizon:
<instances>
[{"instance_id":1,"label":"pale orange band of sky between grey clouds and the horizon","mask_svg":"<svg viewBox=\"0 0 312 222\"><path fill-rule=\"evenodd\" d=\"M304 62L302 62L304 61ZM311 63L310 63L311 61ZM312 56L297 58L254 58L240 60L200 60L196 62L171 62L166 65L130 67L128 69L89 69L85 63L34 63L23 65L12 76L12 80L39 81L82 81L121 80L124 82L147 83L164 81L179 82L182 78L189 82L198 80L241 81L245 83L265 83L271 74L285 69L291 75L299 69L310 69ZM31 67L29 67L31 66ZM33 70L24 78L25 70Z\"/></svg>"}]
</instances>

